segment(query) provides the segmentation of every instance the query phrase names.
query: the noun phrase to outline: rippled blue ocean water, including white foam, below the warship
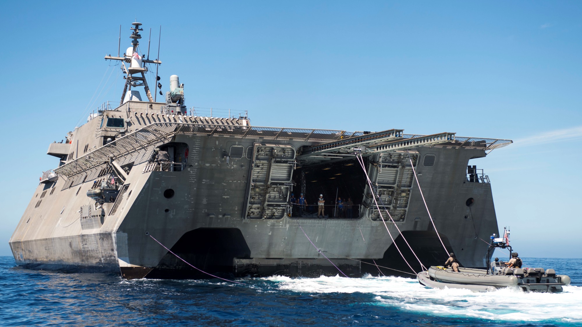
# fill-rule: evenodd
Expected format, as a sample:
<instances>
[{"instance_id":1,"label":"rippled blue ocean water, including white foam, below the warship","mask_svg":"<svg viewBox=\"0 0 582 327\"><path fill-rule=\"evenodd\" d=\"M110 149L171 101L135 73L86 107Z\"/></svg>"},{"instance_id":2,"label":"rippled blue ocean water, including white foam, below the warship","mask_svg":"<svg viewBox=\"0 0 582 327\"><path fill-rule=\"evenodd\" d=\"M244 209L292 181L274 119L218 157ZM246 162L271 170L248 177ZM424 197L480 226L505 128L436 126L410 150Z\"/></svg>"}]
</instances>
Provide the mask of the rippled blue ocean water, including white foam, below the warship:
<instances>
[{"instance_id":1,"label":"rippled blue ocean water, including white foam, below the warship","mask_svg":"<svg viewBox=\"0 0 582 327\"><path fill-rule=\"evenodd\" d=\"M0 257L1 326L582 326L582 259L523 258L569 275L563 293L438 290L416 279L123 280Z\"/></svg>"}]
</instances>

